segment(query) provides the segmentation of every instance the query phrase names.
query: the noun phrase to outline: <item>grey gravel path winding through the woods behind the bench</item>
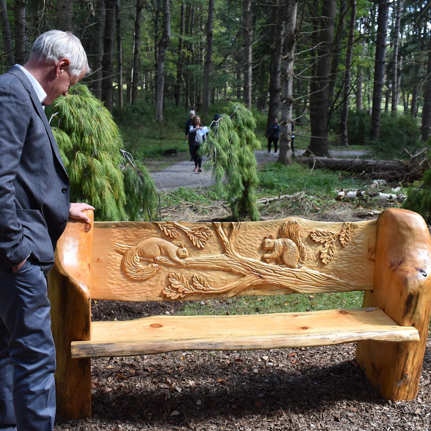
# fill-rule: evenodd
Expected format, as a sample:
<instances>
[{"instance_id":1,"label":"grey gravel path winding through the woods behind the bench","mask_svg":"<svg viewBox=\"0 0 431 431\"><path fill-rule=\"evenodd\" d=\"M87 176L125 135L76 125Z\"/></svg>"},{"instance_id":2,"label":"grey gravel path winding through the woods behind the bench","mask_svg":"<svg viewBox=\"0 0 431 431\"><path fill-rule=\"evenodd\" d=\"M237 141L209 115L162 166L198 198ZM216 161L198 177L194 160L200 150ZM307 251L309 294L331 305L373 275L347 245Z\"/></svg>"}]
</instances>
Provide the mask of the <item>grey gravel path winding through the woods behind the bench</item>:
<instances>
[{"instance_id":1,"label":"grey gravel path winding through the woods behind the bench","mask_svg":"<svg viewBox=\"0 0 431 431\"><path fill-rule=\"evenodd\" d=\"M297 150L298 154L303 154L305 150ZM278 153L267 153L265 150L255 151L256 160L259 165L267 162L276 162ZM365 151L359 150L341 150L332 151L334 157L349 157L349 156L363 156ZM205 159L203 160L203 162ZM203 165L203 163L202 163ZM174 163L171 166L162 169L161 171L152 172L151 175L156 182L156 187L159 190L167 189L172 190L179 187L205 187L214 184L210 173L206 172L193 172L194 162L190 160Z\"/></svg>"}]
</instances>

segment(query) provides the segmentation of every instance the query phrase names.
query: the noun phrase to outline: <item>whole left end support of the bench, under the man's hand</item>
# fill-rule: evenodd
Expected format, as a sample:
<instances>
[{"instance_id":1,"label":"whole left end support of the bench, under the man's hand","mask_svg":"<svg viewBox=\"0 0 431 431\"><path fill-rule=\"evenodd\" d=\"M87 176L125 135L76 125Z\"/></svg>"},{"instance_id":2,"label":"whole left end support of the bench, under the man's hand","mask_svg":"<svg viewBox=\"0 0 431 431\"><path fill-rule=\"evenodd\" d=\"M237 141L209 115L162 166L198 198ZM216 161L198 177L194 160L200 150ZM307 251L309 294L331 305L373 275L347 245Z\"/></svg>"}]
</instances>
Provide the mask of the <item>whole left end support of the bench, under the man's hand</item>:
<instances>
[{"instance_id":1,"label":"whole left end support of the bench, under the man's hand","mask_svg":"<svg viewBox=\"0 0 431 431\"><path fill-rule=\"evenodd\" d=\"M93 211L86 211L91 222ZM56 346L57 414L91 417L90 359L72 359L70 344L90 340L91 224L69 221L57 242L55 265L48 276L51 328Z\"/></svg>"}]
</instances>

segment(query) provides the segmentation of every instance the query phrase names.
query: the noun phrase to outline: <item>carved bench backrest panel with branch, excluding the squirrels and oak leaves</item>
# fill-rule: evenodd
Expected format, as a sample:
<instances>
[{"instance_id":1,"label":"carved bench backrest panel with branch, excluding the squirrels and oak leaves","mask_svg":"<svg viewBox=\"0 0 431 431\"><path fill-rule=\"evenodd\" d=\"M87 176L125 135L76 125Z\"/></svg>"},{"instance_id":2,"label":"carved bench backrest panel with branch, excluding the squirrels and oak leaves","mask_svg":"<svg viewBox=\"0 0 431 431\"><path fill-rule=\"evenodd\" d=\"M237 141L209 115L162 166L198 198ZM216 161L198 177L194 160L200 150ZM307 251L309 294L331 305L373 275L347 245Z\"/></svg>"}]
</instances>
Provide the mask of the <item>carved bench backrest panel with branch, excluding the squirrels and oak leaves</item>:
<instances>
[{"instance_id":1,"label":"carved bench backrest panel with branch, excluding the squirrels and oak leaves","mask_svg":"<svg viewBox=\"0 0 431 431\"><path fill-rule=\"evenodd\" d=\"M283 223L297 220L301 240L307 251L302 268L288 268L275 261L262 260L265 236L278 237ZM163 224L162 224L163 225ZM375 221L351 223L351 240L346 247L337 241L334 256L326 265L321 261L322 244L310 233L316 229L337 232L343 223L322 223L289 218L255 223L177 223L176 237L169 237L152 222L96 222L92 258L91 296L108 300L167 300L163 290L169 287L169 274L183 275L189 283L195 275L204 278L213 291L196 291L186 297L170 299L196 300L205 297L272 295L348 290L371 290L374 272ZM207 228L212 236L205 247L197 248L187 230ZM122 271L121 247L136 246L149 238L169 240L176 247L187 244L189 256L178 264L166 256L158 261L142 258L141 263L158 266L148 280L132 280ZM118 244L122 244L120 247ZM355 256L352 259L352 256ZM139 261L139 259L138 259ZM359 264L360 262L360 264ZM166 292L166 290L165 290Z\"/></svg>"}]
</instances>

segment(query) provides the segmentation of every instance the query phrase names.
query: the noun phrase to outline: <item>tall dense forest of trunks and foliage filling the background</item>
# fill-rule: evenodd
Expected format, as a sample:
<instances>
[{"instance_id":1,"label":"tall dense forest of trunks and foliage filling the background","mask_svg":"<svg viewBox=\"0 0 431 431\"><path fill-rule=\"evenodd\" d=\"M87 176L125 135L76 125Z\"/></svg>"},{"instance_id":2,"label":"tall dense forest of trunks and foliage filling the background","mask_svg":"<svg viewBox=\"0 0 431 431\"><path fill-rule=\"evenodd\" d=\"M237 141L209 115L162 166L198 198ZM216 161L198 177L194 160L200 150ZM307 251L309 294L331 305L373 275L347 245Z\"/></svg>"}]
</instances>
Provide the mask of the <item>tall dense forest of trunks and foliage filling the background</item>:
<instances>
[{"instance_id":1,"label":"tall dense forest of trunks and foliage filling the background","mask_svg":"<svg viewBox=\"0 0 431 431\"><path fill-rule=\"evenodd\" d=\"M92 69L83 83L119 121L151 107L152 122L169 124L169 106L205 114L220 101L239 101L265 114L266 127L279 117L284 163L292 123L316 156L328 156L328 130L341 146L391 145L381 136L384 118L415 147L428 141L431 125L429 6L0 0L0 66L25 63L32 41L58 28L80 37Z\"/></svg>"}]
</instances>

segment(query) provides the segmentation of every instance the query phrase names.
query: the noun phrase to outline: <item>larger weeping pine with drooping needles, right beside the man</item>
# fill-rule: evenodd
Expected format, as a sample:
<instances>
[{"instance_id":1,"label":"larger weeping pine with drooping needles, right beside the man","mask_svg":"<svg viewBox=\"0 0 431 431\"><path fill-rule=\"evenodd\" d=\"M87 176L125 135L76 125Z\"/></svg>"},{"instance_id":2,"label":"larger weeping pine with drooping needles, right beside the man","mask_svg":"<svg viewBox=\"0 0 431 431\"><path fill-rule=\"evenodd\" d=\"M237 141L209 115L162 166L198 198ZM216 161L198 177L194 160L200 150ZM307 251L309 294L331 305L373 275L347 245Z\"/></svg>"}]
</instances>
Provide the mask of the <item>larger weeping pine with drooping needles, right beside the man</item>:
<instances>
[{"instance_id":1,"label":"larger weeping pine with drooping needles, right beside the man","mask_svg":"<svg viewBox=\"0 0 431 431\"><path fill-rule=\"evenodd\" d=\"M53 134L69 174L71 201L94 206L98 221L153 220L154 181L121 150L118 127L103 103L77 85L56 99L53 110L58 119Z\"/></svg>"}]
</instances>

